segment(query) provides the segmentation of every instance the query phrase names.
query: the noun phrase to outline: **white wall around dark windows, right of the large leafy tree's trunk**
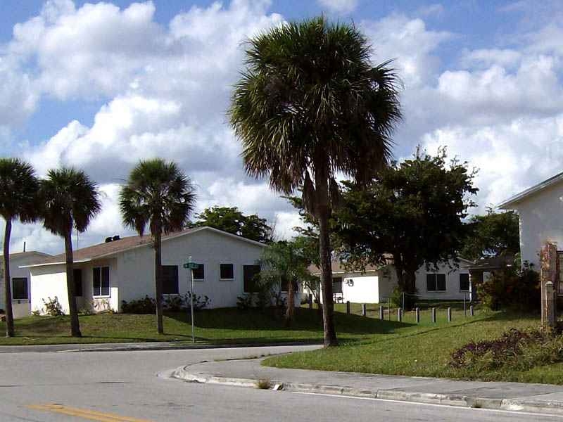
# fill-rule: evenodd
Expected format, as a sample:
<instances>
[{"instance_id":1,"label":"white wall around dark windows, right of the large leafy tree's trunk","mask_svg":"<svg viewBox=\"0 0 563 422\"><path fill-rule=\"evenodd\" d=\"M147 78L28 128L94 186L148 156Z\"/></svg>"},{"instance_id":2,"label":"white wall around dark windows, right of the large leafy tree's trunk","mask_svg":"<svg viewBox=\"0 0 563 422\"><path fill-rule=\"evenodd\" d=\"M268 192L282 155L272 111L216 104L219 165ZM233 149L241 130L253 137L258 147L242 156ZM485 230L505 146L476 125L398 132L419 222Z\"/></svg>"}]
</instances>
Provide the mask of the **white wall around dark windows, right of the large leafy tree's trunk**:
<instances>
[{"instance_id":1,"label":"white wall around dark windows, right of the large leafy tree's trunk","mask_svg":"<svg viewBox=\"0 0 563 422\"><path fill-rule=\"evenodd\" d=\"M417 271L416 287L417 296L423 300L469 300L469 290L460 290L460 274L469 274L467 264L459 263L460 267L455 268L453 262L450 264L440 264L438 269L426 271L422 266ZM426 274L445 274L445 291L426 290Z\"/></svg>"}]
</instances>

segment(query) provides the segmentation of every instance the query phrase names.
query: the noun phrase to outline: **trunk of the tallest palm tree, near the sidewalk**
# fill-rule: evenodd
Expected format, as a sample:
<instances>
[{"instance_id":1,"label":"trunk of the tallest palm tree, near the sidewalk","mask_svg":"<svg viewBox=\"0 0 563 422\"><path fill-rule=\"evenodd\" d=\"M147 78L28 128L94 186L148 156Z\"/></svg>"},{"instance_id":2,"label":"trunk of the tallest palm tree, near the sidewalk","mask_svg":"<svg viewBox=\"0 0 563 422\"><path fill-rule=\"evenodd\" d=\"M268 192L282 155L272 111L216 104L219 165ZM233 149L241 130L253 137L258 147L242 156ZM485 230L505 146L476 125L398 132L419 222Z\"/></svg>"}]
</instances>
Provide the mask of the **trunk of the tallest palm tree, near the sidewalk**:
<instances>
[{"instance_id":1,"label":"trunk of the tallest palm tree, near the sidewalk","mask_svg":"<svg viewBox=\"0 0 563 422\"><path fill-rule=\"evenodd\" d=\"M323 172L315 174L317 194L317 219L319 220L319 254L321 264L322 286L322 323L324 331L324 347L337 346L336 329L334 328L334 302L332 298L332 260L329 237L329 186L327 175Z\"/></svg>"}]
</instances>

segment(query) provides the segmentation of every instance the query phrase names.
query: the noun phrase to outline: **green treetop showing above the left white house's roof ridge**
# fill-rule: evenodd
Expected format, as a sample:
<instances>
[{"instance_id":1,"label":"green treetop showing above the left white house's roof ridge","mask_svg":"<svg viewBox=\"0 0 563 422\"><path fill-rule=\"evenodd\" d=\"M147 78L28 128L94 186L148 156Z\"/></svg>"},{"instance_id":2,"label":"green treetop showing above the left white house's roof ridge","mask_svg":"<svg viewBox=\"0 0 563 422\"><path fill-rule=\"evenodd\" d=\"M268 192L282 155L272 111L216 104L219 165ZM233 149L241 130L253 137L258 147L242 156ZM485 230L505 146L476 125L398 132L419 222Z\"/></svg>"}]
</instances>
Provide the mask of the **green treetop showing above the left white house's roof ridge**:
<instances>
[{"instance_id":1,"label":"green treetop showing above the left white house's roof ridge","mask_svg":"<svg viewBox=\"0 0 563 422\"><path fill-rule=\"evenodd\" d=\"M257 242L272 241L272 227L258 215L243 215L237 207L210 207L196 215L197 221L191 226L214 227L228 233Z\"/></svg>"}]
</instances>

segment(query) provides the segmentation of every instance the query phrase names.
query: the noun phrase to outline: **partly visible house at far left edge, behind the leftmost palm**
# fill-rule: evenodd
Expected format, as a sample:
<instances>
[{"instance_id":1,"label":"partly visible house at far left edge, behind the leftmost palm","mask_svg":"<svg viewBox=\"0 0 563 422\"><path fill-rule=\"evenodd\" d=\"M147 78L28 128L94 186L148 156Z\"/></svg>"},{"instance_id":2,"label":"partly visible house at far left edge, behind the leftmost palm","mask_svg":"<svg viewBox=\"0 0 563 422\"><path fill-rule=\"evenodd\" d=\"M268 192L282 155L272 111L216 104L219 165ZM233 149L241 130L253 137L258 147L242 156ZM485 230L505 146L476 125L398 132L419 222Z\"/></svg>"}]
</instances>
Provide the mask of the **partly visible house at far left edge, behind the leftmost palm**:
<instances>
[{"instance_id":1,"label":"partly visible house at far left edge, behind the leftmost palm","mask_svg":"<svg viewBox=\"0 0 563 422\"><path fill-rule=\"evenodd\" d=\"M10 254L10 278L12 290L12 310L14 318L22 318L30 314L30 269L20 268L41 262L51 257L37 250ZM0 309L6 309L4 303L4 265L0 264Z\"/></svg>"}]
</instances>

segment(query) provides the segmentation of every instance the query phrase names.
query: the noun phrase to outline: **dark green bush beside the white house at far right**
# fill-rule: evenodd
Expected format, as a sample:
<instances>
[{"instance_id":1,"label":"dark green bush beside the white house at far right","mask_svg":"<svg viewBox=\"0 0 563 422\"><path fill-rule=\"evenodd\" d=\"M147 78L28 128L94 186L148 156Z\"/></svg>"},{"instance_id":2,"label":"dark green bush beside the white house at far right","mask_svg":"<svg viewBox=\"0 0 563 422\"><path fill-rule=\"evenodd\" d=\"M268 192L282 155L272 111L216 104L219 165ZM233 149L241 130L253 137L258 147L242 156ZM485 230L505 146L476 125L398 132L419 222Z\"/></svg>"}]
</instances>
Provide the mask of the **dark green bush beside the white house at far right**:
<instances>
[{"instance_id":1,"label":"dark green bush beside the white house at far right","mask_svg":"<svg viewBox=\"0 0 563 422\"><path fill-rule=\"evenodd\" d=\"M495 271L487 281L476 283L476 288L483 304L493 310L540 309L540 274L528 262L521 268L515 262L511 267Z\"/></svg>"}]
</instances>

